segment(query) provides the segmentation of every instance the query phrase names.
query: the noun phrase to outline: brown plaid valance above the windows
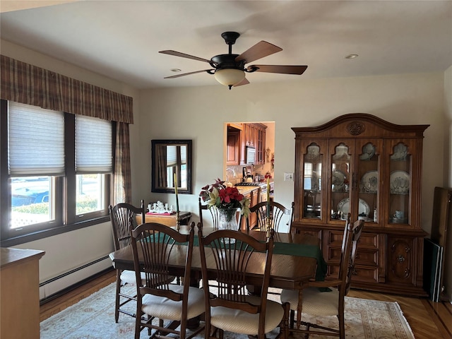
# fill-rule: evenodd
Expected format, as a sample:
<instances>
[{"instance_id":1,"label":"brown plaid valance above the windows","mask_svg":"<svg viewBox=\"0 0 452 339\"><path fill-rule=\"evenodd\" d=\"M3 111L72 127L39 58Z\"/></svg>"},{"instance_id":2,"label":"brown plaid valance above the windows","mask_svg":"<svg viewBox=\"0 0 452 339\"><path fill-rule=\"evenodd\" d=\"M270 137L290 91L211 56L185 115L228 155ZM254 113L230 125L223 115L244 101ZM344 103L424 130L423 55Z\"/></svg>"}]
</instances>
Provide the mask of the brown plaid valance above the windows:
<instances>
[{"instance_id":1,"label":"brown plaid valance above the windows","mask_svg":"<svg viewBox=\"0 0 452 339\"><path fill-rule=\"evenodd\" d=\"M0 97L45 109L133 124L133 99L4 55Z\"/></svg>"}]
</instances>

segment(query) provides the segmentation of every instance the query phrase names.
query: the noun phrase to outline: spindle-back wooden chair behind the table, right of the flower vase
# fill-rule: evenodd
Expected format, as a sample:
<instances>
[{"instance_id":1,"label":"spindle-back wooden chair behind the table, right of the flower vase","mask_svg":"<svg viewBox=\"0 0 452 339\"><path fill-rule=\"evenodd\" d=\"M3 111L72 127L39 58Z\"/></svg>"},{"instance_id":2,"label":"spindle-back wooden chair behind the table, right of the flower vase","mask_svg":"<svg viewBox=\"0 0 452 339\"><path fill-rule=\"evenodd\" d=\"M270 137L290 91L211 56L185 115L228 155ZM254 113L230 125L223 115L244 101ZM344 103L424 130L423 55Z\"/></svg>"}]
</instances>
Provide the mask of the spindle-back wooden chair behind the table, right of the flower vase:
<instances>
[{"instance_id":1,"label":"spindle-back wooden chair behind the table, right of the flower vase","mask_svg":"<svg viewBox=\"0 0 452 339\"><path fill-rule=\"evenodd\" d=\"M266 220L267 220L267 208L270 206L269 215L270 215L270 226L275 232L278 232L281 221L287 220L287 225L292 225L293 221L293 210L295 203L292 202L291 208L285 208L280 203L276 203L275 201L262 201L261 203L258 203L257 205L254 205L249 208L251 213L256 213L257 217L257 228L258 230L261 230L265 232L267 230ZM251 215L250 213L250 215ZM283 218L287 217L287 218ZM243 215L240 215L240 222L239 225L242 225L242 219L245 218ZM250 216L245 219L246 220L246 230L249 231L249 220Z\"/></svg>"}]
</instances>

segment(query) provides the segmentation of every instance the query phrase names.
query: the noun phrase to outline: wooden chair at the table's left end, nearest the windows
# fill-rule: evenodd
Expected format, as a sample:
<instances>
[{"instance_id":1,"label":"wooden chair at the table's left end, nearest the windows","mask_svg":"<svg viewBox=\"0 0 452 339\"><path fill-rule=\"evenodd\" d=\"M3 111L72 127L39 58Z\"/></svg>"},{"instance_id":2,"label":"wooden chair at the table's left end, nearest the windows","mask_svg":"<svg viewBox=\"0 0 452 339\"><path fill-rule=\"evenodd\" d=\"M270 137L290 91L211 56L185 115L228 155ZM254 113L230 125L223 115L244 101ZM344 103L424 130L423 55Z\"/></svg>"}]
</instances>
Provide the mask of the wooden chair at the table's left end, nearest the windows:
<instances>
[{"instance_id":1,"label":"wooden chair at the table's left end, nearest the windows","mask_svg":"<svg viewBox=\"0 0 452 339\"><path fill-rule=\"evenodd\" d=\"M145 206L143 200L141 201L141 207L133 206L130 203L118 203L115 206L109 206L115 251L131 244L129 220L133 218L134 225L136 225L135 218L137 214L141 214L141 220L144 220ZM116 322L118 322L119 313L135 316L134 313L121 309L124 304L131 300L136 300L136 295L128 295L121 292L121 287L127 284L135 284L135 272L133 270L117 270L114 307L114 321Z\"/></svg>"}]
</instances>

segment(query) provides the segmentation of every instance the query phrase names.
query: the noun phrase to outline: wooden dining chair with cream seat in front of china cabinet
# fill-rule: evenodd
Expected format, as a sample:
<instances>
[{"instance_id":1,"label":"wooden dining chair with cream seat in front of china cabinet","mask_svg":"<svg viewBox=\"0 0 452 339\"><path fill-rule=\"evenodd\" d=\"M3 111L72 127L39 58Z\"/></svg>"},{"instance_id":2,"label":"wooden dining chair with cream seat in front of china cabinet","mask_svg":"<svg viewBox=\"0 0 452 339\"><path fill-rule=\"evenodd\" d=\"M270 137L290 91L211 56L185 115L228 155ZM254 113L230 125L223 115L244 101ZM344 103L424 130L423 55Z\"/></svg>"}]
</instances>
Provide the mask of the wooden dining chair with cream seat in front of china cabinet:
<instances>
[{"instance_id":1,"label":"wooden dining chair with cream seat in front of china cabinet","mask_svg":"<svg viewBox=\"0 0 452 339\"><path fill-rule=\"evenodd\" d=\"M290 304L290 331L321 334L345 338L344 299L350 290L350 281L355 268L357 244L364 227L364 220L350 222L350 213L343 235L338 276L333 280L313 281L303 290L282 290L281 302ZM331 278L331 277L329 277ZM329 290L328 292L325 291ZM295 311L297 311L297 328L294 327ZM315 323L301 321L302 314L312 316L337 316L339 327L327 328ZM305 328L299 328L299 326ZM312 330L318 328L319 330Z\"/></svg>"}]
</instances>

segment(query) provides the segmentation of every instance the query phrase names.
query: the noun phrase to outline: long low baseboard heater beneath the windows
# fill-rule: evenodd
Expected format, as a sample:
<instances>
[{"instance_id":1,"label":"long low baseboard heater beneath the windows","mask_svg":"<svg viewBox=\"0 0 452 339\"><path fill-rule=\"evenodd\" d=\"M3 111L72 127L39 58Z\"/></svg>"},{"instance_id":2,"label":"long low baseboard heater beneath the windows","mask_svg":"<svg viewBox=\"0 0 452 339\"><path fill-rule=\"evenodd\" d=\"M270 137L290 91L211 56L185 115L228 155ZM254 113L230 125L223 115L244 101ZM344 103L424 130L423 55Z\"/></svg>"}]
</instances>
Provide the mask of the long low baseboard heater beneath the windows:
<instances>
[{"instance_id":1,"label":"long low baseboard heater beneath the windows","mask_svg":"<svg viewBox=\"0 0 452 339\"><path fill-rule=\"evenodd\" d=\"M109 256L102 256L54 278L45 280L40 283L40 304L49 302L64 293L74 290L112 269L112 261Z\"/></svg>"}]
</instances>

